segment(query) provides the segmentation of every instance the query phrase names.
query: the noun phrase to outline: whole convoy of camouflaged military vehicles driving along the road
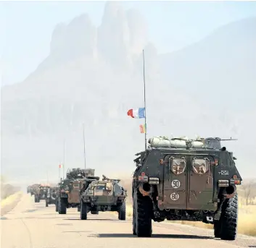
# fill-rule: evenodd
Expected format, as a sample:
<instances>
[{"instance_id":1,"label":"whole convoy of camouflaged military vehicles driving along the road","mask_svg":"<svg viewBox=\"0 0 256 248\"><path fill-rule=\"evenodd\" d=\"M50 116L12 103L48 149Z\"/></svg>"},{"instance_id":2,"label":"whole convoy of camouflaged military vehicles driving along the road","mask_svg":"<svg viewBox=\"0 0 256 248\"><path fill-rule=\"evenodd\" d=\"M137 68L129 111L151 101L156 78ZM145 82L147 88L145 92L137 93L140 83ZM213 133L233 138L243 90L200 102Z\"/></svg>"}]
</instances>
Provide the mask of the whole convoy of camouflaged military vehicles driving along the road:
<instances>
[{"instance_id":1,"label":"whole convoy of camouflaged military vehicles driving along the road","mask_svg":"<svg viewBox=\"0 0 256 248\"><path fill-rule=\"evenodd\" d=\"M215 238L236 239L236 186L242 179L236 158L222 141L215 137L149 139L149 146L134 160L133 235L152 236L152 221L167 219L210 223ZM116 211L118 219L125 220L127 192L119 183L120 179L104 175L100 180L94 169L73 168L47 194L39 184L28 187L28 192L35 194L35 202L46 195L46 207L55 203L59 214L77 207L81 220L99 211Z\"/></svg>"}]
</instances>

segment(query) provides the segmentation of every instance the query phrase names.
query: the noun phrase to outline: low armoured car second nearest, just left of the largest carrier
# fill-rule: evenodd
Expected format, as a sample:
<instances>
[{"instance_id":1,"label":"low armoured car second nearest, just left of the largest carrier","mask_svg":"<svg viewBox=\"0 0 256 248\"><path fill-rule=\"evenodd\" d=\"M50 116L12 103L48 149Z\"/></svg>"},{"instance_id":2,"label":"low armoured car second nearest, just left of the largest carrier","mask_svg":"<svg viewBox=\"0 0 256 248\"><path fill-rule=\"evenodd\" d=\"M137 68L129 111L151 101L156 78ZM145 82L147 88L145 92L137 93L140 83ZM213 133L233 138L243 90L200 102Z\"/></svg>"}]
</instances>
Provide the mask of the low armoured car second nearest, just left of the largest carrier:
<instances>
[{"instance_id":1,"label":"low armoured car second nearest, just left of the largest carrier","mask_svg":"<svg viewBox=\"0 0 256 248\"><path fill-rule=\"evenodd\" d=\"M80 192L80 219L87 220L87 213L117 211L118 219L125 220L126 190L119 184L120 179L88 179Z\"/></svg>"}]
</instances>

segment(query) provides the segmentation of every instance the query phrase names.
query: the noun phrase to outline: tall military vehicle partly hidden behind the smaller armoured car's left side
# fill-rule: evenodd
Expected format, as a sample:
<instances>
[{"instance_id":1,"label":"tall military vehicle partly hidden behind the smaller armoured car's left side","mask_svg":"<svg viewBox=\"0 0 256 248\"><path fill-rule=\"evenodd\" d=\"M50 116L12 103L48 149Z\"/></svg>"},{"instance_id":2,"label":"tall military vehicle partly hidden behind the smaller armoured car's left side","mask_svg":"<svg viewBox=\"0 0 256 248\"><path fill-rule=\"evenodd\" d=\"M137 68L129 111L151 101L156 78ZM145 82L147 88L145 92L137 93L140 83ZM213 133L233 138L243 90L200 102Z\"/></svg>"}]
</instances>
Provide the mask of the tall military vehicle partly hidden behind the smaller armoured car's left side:
<instances>
[{"instance_id":1,"label":"tall military vehicle partly hidden behind the smaller armoured car's left side","mask_svg":"<svg viewBox=\"0 0 256 248\"><path fill-rule=\"evenodd\" d=\"M80 189L86 176L94 176L94 169L73 168L67 171L66 179L61 181L57 197L59 214L66 214L67 208L80 210Z\"/></svg>"}]
</instances>

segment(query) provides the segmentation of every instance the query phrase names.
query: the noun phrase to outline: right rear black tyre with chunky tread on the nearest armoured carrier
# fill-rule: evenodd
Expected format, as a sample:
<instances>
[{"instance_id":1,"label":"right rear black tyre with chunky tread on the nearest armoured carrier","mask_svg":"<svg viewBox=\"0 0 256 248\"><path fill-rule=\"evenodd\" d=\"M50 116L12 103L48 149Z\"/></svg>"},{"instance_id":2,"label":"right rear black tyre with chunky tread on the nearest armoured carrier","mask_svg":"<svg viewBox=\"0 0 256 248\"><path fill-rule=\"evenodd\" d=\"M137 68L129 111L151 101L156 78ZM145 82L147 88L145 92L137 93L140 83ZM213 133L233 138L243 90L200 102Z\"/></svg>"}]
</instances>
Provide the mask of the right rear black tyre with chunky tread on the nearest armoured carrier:
<instances>
[{"instance_id":1,"label":"right rear black tyre with chunky tread on the nearest armoured carrier","mask_svg":"<svg viewBox=\"0 0 256 248\"><path fill-rule=\"evenodd\" d=\"M238 220L238 196L223 202L220 215L220 239L235 240Z\"/></svg>"}]
</instances>

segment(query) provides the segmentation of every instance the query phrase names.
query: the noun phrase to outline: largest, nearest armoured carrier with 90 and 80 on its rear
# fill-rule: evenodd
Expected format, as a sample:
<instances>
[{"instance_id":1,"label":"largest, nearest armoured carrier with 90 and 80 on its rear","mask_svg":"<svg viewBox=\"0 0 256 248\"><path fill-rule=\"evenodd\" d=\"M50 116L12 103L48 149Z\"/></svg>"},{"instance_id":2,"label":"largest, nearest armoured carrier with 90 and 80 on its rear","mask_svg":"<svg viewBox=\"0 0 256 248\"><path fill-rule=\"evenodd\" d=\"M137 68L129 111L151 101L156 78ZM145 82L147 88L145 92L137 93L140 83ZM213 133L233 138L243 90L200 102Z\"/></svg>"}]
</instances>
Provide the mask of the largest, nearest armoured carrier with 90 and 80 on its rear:
<instances>
[{"instance_id":1,"label":"largest, nearest armoured carrier with 90 and 80 on its rear","mask_svg":"<svg viewBox=\"0 0 256 248\"><path fill-rule=\"evenodd\" d=\"M220 138L149 139L133 173L133 234L152 235L152 220L202 221L215 237L236 239L241 176Z\"/></svg>"}]
</instances>

